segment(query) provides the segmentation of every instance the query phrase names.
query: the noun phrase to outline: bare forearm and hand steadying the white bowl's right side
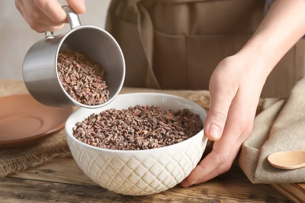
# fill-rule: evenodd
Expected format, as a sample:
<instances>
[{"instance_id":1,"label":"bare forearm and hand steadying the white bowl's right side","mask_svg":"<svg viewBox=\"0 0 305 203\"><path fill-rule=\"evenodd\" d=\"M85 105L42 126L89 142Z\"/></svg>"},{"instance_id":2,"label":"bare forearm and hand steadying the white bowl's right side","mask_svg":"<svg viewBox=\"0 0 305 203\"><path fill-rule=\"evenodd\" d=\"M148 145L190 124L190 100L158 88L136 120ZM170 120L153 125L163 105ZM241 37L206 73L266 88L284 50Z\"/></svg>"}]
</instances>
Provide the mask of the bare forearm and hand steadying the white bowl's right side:
<instances>
[{"instance_id":1,"label":"bare forearm and hand steadying the white bowl's right side","mask_svg":"<svg viewBox=\"0 0 305 203\"><path fill-rule=\"evenodd\" d=\"M260 93L273 67L305 34L305 0L275 0L248 43L222 60L210 80L204 131L216 141L181 184L188 187L226 172L249 137Z\"/></svg>"}]
</instances>

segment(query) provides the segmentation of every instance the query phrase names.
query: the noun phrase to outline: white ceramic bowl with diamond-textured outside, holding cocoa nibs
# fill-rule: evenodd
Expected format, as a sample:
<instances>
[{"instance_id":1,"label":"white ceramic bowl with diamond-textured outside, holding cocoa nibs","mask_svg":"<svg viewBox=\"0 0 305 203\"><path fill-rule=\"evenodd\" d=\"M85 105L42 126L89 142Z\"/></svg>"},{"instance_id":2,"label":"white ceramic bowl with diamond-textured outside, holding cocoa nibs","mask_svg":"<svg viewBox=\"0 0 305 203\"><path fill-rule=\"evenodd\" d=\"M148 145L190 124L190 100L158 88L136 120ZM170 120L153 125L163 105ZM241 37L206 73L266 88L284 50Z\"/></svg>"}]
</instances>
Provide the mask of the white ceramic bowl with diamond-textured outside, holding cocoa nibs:
<instances>
[{"instance_id":1,"label":"white ceramic bowl with diamond-textured outside, holding cocoa nibs","mask_svg":"<svg viewBox=\"0 0 305 203\"><path fill-rule=\"evenodd\" d=\"M135 105L155 105L162 110L189 109L199 114L203 123L206 118L206 111L201 106L182 97L159 93L122 94L105 107L80 108L68 118L66 135L69 148L85 175L103 188L125 195L162 192L184 180L199 162L207 143L203 130L181 143L138 151L101 149L73 137L75 123L90 114Z\"/></svg>"}]
</instances>

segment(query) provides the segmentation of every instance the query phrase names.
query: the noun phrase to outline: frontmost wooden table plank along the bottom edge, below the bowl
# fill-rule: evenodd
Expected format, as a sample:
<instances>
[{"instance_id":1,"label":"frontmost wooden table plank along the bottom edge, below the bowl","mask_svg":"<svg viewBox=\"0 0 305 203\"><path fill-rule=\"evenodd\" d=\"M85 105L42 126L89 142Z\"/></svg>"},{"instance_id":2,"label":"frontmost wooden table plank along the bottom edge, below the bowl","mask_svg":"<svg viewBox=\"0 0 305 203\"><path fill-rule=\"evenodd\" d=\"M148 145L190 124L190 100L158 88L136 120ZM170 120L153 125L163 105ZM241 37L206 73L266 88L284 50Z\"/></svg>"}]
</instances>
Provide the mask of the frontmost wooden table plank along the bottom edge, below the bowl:
<instances>
[{"instance_id":1,"label":"frontmost wooden table plank along the bottom edge, below the bowl","mask_svg":"<svg viewBox=\"0 0 305 203\"><path fill-rule=\"evenodd\" d=\"M141 197L124 196L110 192L101 187L88 187L64 183L54 183L20 178L6 177L0 179L1 203L27 202L219 202L202 198L189 198L167 194L147 195Z\"/></svg>"}]
</instances>

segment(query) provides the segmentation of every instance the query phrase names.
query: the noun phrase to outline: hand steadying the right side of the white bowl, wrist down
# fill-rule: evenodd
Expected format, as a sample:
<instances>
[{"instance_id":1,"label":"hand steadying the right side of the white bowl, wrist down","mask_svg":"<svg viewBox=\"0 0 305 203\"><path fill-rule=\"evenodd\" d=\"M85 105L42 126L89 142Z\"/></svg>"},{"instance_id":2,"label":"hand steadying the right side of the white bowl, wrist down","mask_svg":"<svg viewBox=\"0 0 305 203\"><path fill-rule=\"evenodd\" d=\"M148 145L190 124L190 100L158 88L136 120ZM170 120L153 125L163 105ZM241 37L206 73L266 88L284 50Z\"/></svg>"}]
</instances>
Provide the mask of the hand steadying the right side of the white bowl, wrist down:
<instances>
[{"instance_id":1,"label":"hand steadying the right side of the white bowl, wrist down","mask_svg":"<svg viewBox=\"0 0 305 203\"><path fill-rule=\"evenodd\" d=\"M227 172L249 137L260 93L269 72L262 59L237 53L222 60L211 76L210 110L204 132L215 141L212 151L182 181L183 187L203 183Z\"/></svg>"}]
</instances>

